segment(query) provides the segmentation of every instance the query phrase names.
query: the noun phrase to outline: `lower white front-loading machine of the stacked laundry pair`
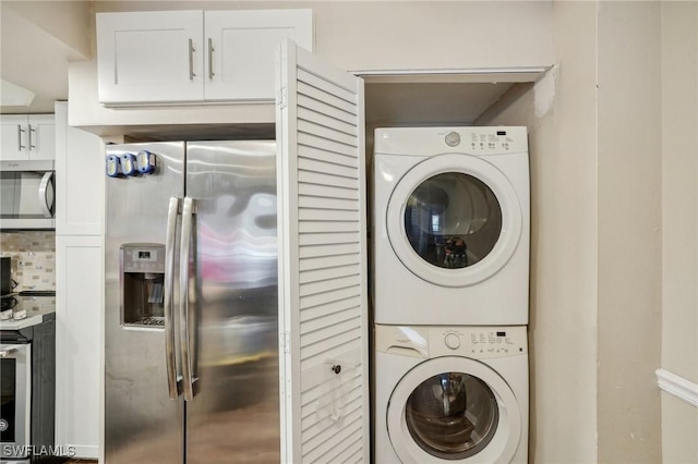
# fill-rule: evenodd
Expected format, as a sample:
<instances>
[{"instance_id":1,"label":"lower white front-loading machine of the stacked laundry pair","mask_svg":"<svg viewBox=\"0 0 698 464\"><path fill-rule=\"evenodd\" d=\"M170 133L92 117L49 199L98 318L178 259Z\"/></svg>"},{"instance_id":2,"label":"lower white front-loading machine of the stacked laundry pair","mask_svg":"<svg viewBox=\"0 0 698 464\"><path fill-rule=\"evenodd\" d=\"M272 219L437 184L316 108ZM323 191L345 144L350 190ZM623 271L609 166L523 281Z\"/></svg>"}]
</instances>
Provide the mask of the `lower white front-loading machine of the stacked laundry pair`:
<instances>
[{"instance_id":1,"label":"lower white front-loading machine of the stacked laundry pair","mask_svg":"<svg viewBox=\"0 0 698 464\"><path fill-rule=\"evenodd\" d=\"M528 462L526 327L375 326L374 462Z\"/></svg>"}]
</instances>

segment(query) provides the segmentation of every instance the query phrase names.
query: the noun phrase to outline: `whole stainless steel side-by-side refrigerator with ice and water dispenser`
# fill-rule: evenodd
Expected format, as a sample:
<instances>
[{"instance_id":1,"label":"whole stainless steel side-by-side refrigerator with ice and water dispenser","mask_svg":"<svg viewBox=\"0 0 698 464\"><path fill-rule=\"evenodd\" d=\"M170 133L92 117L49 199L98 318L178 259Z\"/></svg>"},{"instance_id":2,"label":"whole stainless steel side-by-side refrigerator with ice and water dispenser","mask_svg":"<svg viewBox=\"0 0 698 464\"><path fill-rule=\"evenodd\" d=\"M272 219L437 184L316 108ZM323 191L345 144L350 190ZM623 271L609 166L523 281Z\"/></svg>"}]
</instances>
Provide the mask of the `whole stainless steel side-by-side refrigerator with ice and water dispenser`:
<instances>
[{"instance_id":1,"label":"whole stainless steel side-by-side refrigerator with ice and water dispenser","mask_svg":"<svg viewBox=\"0 0 698 464\"><path fill-rule=\"evenodd\" d=\"M278 462L275 143L106 162L106 462Z\"/></svg>"}]
</instances>

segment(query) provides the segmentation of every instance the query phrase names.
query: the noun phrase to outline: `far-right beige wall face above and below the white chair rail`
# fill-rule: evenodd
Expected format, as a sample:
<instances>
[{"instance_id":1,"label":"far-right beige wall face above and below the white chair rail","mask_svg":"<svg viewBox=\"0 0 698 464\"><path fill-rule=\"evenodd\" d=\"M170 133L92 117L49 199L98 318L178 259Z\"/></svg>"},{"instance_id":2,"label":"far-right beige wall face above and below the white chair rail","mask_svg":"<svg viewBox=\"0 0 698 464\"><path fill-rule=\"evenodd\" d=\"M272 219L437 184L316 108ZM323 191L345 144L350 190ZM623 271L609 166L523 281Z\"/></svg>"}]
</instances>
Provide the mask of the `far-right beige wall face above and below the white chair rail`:
<instances>
[{"instance_id":1,"label":"far-right beige wall face above and below the white chair rail","mask_svg":"<svg viewBox=\"0 0 698 464\"><path fill-rule=\"evenodd\" d=\"M698 383L698 4L662 4L662 359ZM698 408L662 394L663 462L698 462Z\"/></svg>"}]
</instances>

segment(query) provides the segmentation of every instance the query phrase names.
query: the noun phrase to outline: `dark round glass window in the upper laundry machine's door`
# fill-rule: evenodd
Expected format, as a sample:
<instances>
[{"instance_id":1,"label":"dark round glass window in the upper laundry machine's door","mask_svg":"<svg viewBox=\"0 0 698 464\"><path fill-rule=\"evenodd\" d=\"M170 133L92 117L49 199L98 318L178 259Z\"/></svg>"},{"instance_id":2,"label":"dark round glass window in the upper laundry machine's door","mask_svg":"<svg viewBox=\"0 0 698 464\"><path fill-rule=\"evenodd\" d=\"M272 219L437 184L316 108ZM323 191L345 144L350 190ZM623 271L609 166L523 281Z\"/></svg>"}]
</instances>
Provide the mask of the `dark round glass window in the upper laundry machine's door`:
<instances>
[{"instance_id":1,"label":"dark round glass window in the upper laundry machine's door","mask_svg":"<svg viewBox=\"0 0 698 464\"><path fill-rule=\"evenodd\" d=\"M502 232L502 208L492 190L462 172L426 179L410 194L405 232L414 252L440 268L472 266L492 252Z\"/></svg>"}]
</instances>

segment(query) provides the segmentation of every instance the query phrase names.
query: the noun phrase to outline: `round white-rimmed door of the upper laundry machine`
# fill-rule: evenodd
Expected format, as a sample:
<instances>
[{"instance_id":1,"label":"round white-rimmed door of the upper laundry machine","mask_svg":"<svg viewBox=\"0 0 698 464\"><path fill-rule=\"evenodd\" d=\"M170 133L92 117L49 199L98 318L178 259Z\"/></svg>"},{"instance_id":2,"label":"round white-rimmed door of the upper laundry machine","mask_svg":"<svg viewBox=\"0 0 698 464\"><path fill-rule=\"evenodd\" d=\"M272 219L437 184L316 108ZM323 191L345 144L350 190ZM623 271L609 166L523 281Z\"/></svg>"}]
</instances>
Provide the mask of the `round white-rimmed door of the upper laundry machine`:
<instances>
[{"instance_id":1,"label":"round white-rimmed door of the upper laundry machine","mask_svg":"<svg viewBox=\"0 0 698 464\"><path fill-rule=\"evenodd\" d=\"M521 206L493 164L468 155L438 155L400 179L387 208L397 257L442 286L467 286L497 272L521 235Z\"/></svg>"}]
</instances>

